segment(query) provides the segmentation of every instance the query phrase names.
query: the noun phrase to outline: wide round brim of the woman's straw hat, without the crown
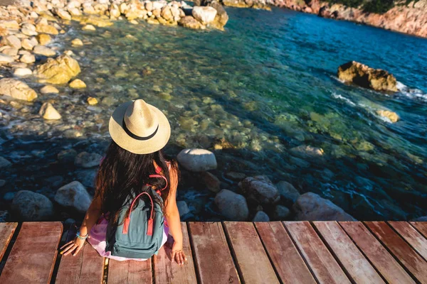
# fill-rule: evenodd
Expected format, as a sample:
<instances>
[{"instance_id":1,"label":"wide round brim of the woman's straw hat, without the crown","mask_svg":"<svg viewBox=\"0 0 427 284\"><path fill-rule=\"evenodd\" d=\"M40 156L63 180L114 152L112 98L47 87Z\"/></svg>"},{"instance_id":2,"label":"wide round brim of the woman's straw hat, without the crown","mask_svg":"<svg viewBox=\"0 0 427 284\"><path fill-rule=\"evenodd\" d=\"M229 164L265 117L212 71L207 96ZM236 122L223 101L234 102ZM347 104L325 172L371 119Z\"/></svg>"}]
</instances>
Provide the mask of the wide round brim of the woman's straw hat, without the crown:
<instances>
[{"instance_id":1,"label":"wide round brim of the woman's straw hat, without the crown","mask_svg":"<svg viewBox=\"0 0 427 284\"><path fill-rule=\"evenodd\" d=\"M166 146L171 136L171 126L163 112L157 109L157 107L153 107L151 104L147 105L153 113L157 115L159 121L159 129L157 133L152 138L144 141L132 138L126 133L123 129L122 122L125 117L127 107L129 107L130 104L132 104L132 101L120 104L120 106L112 113L110 123L108 124L108 131L110 131L112 140L115 141L118 146L135 154L154 153Z\"/></svg>"}]
</instances>

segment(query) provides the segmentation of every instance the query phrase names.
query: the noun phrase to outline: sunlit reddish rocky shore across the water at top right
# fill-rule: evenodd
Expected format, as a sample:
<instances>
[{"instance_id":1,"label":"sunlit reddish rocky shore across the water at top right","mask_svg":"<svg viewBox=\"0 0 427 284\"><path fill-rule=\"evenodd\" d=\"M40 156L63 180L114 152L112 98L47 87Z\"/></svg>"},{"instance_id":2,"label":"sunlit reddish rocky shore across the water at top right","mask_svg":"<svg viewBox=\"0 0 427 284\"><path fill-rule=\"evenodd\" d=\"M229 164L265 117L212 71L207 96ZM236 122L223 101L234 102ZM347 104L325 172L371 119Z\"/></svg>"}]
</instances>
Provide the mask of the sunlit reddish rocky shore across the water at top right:
<instances>
[{"instance_id":1,"label":"sunlit reddish rocky shore across the water at top right","mask_svg":"<svg viewBox=\"0 0 427 284\"><path fill-rule=\"evenodd\" d=\"M204 3L203 0L196 0L195 2L199 3L199 1ZM352 8L343 4L332 4L320 0L222 0L222 3L224 6L255 9L268 9L268 6L277 6L304 13L313 13L323 18L352 21L427 38L426 0L396 1L393 8L382 14L366 12L362 7Z\"/></svg>"}]
</instances>

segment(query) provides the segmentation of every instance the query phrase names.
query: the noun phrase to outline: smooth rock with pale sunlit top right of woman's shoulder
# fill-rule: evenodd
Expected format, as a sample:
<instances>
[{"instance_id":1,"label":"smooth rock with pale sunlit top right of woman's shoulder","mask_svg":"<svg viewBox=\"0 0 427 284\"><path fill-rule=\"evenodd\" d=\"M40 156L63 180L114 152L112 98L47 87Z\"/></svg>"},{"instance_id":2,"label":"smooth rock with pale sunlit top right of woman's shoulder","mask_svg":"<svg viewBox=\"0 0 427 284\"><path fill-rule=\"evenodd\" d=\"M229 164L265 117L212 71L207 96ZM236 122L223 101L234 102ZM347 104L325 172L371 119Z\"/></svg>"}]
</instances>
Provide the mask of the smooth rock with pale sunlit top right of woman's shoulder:
<instances>
[{"instance_id":1,"label":"smooth rock with pale sunlit top right of woman's shoulder","mask_svg":"<svg viewBox=\"0 0 427 284\"><path fill-rule=\"evenodd\" d=\"M214 153L204 149L184 149L177 155L178 162L191 172L204 172L216 169Z\"/></svg>"}]
</instances>

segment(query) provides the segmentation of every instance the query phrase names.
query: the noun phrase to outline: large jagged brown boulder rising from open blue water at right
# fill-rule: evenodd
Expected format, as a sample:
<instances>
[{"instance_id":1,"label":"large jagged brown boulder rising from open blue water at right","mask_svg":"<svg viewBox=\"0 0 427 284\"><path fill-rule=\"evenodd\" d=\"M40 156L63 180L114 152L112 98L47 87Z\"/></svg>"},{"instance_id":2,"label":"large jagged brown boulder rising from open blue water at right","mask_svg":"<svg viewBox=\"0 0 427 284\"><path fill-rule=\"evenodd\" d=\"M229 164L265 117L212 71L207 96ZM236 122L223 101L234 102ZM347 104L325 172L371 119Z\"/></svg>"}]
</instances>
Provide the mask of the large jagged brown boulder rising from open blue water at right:
<instances>
[{"instance_id":1,"label":"large jagged brown boulder rising from open blue water at right","mask_svg":"<svg viewBox=\"0 0 427 284\"><path fill-rule=\"evenodd\" d=\"M338 78L346 83L376 91L397 92L396 78L389 72L374 69L356 61L347 62L338 68Z\"/></svg>"}]
</instances>

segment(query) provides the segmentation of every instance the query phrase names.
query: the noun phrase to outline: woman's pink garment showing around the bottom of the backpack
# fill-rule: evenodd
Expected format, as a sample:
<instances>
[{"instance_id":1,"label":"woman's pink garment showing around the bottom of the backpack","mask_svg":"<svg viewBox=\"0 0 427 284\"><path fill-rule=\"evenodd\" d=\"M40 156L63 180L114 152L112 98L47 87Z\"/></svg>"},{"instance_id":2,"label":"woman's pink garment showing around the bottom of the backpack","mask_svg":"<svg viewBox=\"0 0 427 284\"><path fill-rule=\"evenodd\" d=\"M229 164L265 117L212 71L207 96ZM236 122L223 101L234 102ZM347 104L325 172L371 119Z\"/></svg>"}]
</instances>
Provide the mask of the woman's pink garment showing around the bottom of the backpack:
<instances>
[{"instance_id":1,"label":"woman's pink garment showing around the bottom of the backpack","mask_svg":"<svg viewBox=\"0 0 427 284\"><path fill-rule=\"evenodd\" d=\"M166 220L165 220L166 221ZM93 246L100 256L115 259L116 261L147 261L147 258L124 258L120 256L112 256L111 251L105 251L105 236L107 235L107 226L108 221L104 217L100 217L100 222L98 221L90 230L88 242ZM169 228L165 223L164 232L163 232L163 241L162 246L167 241L167 236L169 234ZM160 246L160 247L162 247Z\"/></svg>"}]
</instances>

